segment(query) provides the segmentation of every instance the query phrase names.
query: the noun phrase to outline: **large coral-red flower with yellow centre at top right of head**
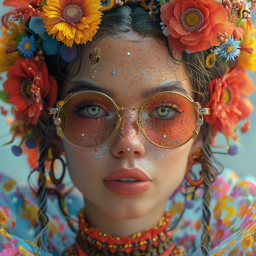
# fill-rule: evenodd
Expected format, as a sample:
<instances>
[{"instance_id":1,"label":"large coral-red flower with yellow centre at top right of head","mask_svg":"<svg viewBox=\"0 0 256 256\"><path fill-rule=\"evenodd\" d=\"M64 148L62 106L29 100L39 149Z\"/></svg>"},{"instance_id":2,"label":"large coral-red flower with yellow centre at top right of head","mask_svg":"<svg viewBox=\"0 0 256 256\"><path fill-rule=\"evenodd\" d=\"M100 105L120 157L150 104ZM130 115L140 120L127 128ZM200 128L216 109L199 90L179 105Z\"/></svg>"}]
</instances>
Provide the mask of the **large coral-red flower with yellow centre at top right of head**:
<instances>
[{"instance_id":1,"label":"large coral-red flower with yellow centre at top right of head","mask_svg":"<svg viewBox=\"0 0 256 256\"><path fill-rule=\"evenodd\" d=\"M227 22L227 11L215 0L174 0L161 7L167 25L169 45L177 52L198 52L219 45L218 32L231 36L234 24Z\"/></svg>"}]
</instances>

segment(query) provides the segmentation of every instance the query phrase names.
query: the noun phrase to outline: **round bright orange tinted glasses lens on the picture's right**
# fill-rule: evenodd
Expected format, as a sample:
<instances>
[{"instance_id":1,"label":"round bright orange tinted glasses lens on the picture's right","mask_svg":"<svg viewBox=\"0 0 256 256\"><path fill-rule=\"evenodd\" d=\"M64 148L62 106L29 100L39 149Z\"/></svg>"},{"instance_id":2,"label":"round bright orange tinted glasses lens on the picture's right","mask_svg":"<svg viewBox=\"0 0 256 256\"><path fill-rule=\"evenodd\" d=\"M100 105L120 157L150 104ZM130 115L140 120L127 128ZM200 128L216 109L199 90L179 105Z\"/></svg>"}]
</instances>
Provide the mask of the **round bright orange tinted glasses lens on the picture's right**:
<instances>
[{"instance_id":1,"label":"round bright orange tinted glasses lens on the picture's right","mask_svg":"<svg viewBox=\"0 0 256 256\"><path fill-rule=\"evenodd\" d=\"M181 146L191 139L198 119L189 99L181 94L157 94L141 107L139 124L144 135L162 147Z\"/></svg>"}]
</instances>

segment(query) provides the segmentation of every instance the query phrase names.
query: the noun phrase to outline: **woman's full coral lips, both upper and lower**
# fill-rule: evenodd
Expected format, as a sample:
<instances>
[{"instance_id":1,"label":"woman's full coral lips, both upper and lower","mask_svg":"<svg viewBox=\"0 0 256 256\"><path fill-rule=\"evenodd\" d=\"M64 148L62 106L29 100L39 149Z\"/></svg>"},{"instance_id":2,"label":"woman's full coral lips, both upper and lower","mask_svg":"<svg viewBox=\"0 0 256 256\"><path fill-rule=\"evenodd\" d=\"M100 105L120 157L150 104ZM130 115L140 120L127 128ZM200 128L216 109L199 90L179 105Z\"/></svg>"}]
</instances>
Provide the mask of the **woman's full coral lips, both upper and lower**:
<instances>
[{"instance_id":1,"label":"woman's full coral lips, both upper and lower","mask_svg":"<svg viewBox=\"0 0 256 256\"><path fill-rule=\"evenodd\" d=\"M118 181L126 177L137 181ZM118 168L103 179L103 184L108 190L119 195L139 195L150 188L152 181L139 168Z\"/></svg>"}]
</instances>

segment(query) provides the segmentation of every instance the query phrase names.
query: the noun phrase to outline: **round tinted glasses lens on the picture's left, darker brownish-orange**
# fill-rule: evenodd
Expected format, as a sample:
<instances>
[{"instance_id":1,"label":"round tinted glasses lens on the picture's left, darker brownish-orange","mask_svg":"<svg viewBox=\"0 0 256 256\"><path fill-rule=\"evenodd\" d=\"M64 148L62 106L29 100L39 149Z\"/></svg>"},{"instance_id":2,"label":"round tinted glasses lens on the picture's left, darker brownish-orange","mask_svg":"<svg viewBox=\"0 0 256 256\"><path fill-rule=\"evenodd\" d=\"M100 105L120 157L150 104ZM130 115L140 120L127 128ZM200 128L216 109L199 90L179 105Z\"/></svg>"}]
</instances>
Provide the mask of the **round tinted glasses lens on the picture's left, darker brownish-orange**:
<instances>
[{"instance_id":1,"label":"round tinted glasses lens on the picture's left, darker brownish-orange","mask_svg":"<svg viewBox=\"0 0 256 256\"><path fill-rule=\"evenodd\" d=\"M59 117L64 136L81 147L96 147L107 141L117 127L118 112L110 98L95 92L70 97Z\"/></svg>"}]
</instances>

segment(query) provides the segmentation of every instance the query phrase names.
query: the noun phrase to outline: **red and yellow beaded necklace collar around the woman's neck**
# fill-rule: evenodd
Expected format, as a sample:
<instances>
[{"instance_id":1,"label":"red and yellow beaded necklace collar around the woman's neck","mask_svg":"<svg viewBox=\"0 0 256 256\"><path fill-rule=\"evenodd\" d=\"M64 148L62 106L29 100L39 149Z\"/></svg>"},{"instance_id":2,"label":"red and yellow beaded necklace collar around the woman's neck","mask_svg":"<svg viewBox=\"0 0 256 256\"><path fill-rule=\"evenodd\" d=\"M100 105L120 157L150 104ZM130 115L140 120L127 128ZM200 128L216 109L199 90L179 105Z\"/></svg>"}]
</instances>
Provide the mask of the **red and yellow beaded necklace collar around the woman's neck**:
<instances>
[{"instance_id":1,"label":"red and yellow beaded necklace collar around the woman's neck","mask_svg":"<svg viewBox=\"0 0 256 256\"><path fill-rule=\"evenodd\" d=\"M78 217L76 243L62 256L187 256L184 249L176 247L171 240L173 232L169 230L169 213L165 213L156 227L130 237L102 234L99 229L88 227L83 209Z\"/></svg>"}]
</instances>

